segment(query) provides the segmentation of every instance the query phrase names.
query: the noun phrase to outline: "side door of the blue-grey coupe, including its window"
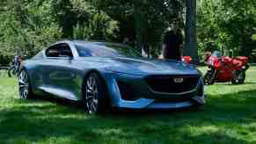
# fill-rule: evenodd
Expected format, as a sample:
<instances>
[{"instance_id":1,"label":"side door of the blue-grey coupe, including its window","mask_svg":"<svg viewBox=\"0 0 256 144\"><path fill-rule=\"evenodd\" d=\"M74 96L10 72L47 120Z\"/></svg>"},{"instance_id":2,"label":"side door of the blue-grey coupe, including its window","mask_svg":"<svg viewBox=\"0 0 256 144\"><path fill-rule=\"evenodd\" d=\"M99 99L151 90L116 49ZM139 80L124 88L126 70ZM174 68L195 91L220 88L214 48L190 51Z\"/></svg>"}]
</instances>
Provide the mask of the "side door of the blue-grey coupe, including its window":
<instances>
[{"instance_id":1,"label":"side door of the blue-grey coupe, including its window","mask_svg":"<svg viewBox=\"0 0 256 144\"><path fill-rule=\"evenodd\" d=\"M46 50L46 61L41 67L44 73L43 90L59 97L77 100L77 72L72 64L73 54L67 43L49 47Z\"/></svg>"}]
</instances>

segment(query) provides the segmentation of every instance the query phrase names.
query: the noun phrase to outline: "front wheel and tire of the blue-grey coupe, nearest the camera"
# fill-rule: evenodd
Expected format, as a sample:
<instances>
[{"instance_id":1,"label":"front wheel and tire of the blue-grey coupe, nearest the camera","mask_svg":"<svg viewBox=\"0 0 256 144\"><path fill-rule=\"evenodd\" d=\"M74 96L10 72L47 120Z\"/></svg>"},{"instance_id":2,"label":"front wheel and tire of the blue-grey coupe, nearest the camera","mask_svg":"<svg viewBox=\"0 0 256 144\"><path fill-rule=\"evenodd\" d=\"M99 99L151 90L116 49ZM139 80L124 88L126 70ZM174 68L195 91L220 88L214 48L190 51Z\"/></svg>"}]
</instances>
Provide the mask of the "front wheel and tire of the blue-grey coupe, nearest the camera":
<instances>
[{"instance_id":1,"label":"front wheel and tire of the blue-grey coupe, nearest the camera","mask_svg":"<svg viewBox=\"0 0 256 144\"><path fill-rule=\"evenodd\" d=\"M106 84L99 74L95 72L92 72L84 80L83 105L85 111L90 114L103 114L109 110L110 104L107 96Z\"/></svg>"}]
</instances>

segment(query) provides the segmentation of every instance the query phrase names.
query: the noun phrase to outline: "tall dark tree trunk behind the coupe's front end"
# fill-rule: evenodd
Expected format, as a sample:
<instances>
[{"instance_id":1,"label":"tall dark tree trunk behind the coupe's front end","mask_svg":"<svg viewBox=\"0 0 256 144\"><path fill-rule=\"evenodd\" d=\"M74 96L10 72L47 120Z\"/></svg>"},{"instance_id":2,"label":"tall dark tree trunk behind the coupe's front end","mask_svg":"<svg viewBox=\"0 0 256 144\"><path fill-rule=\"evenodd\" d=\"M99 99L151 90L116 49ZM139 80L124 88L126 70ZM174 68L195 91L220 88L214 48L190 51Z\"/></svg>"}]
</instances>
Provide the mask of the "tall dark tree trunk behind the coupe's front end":
<instances>
[{"instance_id":1,"label":"tall dark tree trunk behind the coupe's front end","mask_svg":"<svg viewBox=\"0 0 256 144\"><path fill-rule=\"evenodd\" d=\"M193 63L198 64L196 41L196 0L186 0L186 28L184 55L193 58Z\"/></svg>"}]
</instances>

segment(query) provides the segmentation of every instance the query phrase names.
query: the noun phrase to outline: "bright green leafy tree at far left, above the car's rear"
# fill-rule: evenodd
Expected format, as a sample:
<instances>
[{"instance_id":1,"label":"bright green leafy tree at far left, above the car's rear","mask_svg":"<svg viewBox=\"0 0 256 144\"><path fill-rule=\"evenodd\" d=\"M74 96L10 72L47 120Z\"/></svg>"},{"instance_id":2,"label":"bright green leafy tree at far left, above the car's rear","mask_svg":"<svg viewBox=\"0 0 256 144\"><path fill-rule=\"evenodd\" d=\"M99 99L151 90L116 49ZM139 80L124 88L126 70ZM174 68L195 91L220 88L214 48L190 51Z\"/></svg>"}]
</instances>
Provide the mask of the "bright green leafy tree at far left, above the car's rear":
<instances>
[{"instance_id":1,"label":"bright green leafy tree at far left, above the car's rear","mask_svg":"<svg viewBox=\"0 0 256 144\"><path fill-rule=\"evenodd\" d=\"M49 1L5 1L0 14L1 55L33 55L59 39L61 28L51 17L49 7Z\"/></svg>"}]
</instances>

